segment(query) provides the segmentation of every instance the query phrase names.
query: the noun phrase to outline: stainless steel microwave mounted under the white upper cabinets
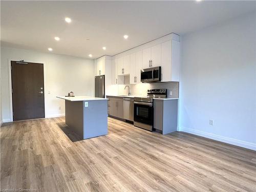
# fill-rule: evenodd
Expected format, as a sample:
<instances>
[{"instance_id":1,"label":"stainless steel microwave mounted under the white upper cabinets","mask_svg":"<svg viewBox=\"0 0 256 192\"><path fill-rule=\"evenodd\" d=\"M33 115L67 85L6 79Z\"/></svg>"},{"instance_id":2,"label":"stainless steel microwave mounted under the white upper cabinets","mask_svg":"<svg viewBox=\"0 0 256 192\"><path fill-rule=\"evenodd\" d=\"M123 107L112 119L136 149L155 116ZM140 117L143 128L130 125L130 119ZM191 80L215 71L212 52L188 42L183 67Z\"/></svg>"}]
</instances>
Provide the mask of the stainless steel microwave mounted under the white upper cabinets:
<instances>
[{"instance_id":1,"label":"stainless steel microwave mounted under the white upper cabinets","mask_svg":"<svg viewBox=\"0 0 256 192\"><path fill-rule=\"evenodd\" d=\"M161 67L143 69L140 72L141 82L161 81Z\"/></svg>"}]
</instances>

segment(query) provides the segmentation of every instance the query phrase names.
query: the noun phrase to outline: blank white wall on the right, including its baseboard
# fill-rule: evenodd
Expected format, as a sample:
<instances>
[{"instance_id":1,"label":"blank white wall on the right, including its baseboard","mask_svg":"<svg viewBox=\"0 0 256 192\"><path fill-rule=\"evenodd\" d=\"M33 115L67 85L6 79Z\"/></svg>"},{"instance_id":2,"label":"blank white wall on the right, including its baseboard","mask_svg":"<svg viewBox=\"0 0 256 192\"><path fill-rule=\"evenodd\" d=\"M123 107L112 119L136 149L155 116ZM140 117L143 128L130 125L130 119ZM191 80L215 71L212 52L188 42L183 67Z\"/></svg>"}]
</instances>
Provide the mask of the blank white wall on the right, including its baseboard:
<instances>
[{"instance_id":1,"label":"blank white wall on the right, including its baseboard","mask_svg":"<svg viewBox=\"0 0 256 192\"><path fill-rule=\"evenodd\" d=\"M180 131L256 150L255 24L253 13L182 37Z\"/></svg>"}]
</instances>

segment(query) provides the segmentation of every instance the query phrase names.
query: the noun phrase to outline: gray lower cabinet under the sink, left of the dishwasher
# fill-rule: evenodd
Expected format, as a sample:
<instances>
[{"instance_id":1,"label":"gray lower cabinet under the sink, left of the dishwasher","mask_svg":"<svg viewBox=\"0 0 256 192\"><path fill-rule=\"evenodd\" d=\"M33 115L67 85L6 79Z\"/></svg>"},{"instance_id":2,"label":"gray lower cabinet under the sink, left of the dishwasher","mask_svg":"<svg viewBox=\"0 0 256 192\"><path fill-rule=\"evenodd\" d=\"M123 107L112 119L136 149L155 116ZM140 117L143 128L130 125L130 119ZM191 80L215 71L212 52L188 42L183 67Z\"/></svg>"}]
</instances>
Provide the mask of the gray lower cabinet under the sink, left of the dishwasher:
<instances>
[{"instance_id":1,"label":"gray lower cabinet under the sink, left of the dishwasher","mask_svg":"<svg viewBox=\"0 0 256 192\"><path fill-rule=\"evenodd\" d=\"M109 97L108 101L108 115L123 119L123 98Z\"/></svg>"}]
</instances>

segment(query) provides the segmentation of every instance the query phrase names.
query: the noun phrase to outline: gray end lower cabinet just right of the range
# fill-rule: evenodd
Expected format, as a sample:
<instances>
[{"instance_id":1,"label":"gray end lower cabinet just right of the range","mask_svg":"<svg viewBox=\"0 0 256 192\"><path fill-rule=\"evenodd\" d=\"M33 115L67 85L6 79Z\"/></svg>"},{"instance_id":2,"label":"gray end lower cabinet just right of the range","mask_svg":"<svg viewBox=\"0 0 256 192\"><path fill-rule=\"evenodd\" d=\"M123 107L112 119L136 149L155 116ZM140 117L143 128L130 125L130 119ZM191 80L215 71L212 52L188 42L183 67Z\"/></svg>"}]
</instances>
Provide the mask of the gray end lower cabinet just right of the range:
<instances>
[{"instance_id":1,"label":"gray end lower cabinet just right of the range","mask_svg":"<svg viewBox=\"0 0 256 192\"><path fill-rule=\"evenodd\" d=\"M162 134L177 131L178 99L154 100L154 128Z\"/></svg>"}]
</instances>

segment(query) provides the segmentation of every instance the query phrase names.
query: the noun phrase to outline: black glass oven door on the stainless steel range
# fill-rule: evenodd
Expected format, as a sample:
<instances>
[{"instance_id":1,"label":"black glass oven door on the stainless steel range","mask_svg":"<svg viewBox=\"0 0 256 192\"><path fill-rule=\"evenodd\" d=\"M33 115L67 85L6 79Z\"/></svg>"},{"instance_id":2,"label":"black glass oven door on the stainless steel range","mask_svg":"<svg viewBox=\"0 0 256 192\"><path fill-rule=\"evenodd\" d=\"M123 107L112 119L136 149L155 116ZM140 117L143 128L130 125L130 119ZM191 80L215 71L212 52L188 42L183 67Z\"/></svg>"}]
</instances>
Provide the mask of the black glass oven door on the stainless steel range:
<instances>
[{"instance_id":1,"label":"black glass oven door on the stainless steel range","mask_svg":"<svg viewBox=\"0 0 256 192\"><path fill-rule=\"evenodd\" d=\"M153 117L153 103L134 101L134 121L148 125L153 125Z\"/></svg>"}]
</instances>

